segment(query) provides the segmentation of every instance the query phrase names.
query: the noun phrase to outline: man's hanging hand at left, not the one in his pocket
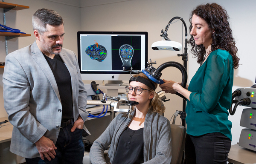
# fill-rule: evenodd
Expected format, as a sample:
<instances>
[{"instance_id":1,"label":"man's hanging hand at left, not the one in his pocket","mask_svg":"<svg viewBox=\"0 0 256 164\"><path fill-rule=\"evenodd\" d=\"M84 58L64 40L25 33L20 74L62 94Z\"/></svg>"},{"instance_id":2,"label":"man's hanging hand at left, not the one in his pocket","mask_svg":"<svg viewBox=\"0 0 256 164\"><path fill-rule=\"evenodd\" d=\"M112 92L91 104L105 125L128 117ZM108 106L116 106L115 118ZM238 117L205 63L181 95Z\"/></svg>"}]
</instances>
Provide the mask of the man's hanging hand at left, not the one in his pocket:
<instances>
[{"instance_id":1,"label":"man's hanging hand at left, not the one in his pocket","mask_svg":"<svg viewBox=\"0 0 256 164\"><path fill-rule=\"evenodd\" d=\"M49 138L43 135L38 141L36 141L35 146L38 149L42 160L44 160L44 155L49 161L51 161L51 158L55 158L55 150L57 149L57 147L55 147L52 140L50 140Z\"/></svg>"}]
</instances>

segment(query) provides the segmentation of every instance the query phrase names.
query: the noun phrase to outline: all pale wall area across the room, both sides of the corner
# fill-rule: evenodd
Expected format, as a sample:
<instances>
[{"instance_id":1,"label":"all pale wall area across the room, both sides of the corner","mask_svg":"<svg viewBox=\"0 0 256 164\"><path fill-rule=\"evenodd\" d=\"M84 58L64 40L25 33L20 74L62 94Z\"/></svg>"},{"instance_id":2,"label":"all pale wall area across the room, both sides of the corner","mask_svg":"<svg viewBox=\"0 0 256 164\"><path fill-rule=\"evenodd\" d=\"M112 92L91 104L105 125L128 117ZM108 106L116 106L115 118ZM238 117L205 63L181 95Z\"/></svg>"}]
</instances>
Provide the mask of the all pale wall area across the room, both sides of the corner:
<instances>
[{"instance_id":1,"label":"all pale wall area across the room, both sides of the corner","mask_svg":"<svg viewBox=\"0 0 256 164\"><path fill-rule=\"evenodd\" d=\"M161 40L160 31L172 17L183 17L187 27L189 27L189 14L197 5L212 3L207 0L81 0L81 8L78 0L62 0L65 3L56 3L61 0L5 0L7 3L17 3L29 6L30 9L20 11L10 11L6 13L6 25L20 29L22 32L32 34L31 37L20 37L8 41L9 53L27 46L35 40L32 30L32 14L41 8L48 8L57 11L65 21L64 47L77 53L77 31L146 31L148 32L148 55L152 60L157 60L156 67L166 61L177 61L182 63L181 57L177 57L177 52L153 51L150 46L155 41ZM233 36L236 39L236 46L239 49L240 64L235 71L233 90L240 87L252 86L255 82L253 42L253 30L255 27L254 16L256 6L254 0L215 0L214 2L224 6L230 16L230 25ZM0 13L3 10L0 9ZM3 22L3 17L0 17ZM3 24L3 23L2 23ZM181 21L169 27L168 35L174 41L182 42ZM0 62L5 60L4 37L0 37ZM189 53L188 75L189 81L195 74L199 65L196 59ZM162 78L174 81L181 81L180 72L175 68L165 69ZM0 76L3 69L0 68ZM0 77L0 78L1 78ZM90 81L85 81L90 83ZM102 83L97 81L97 83ZM157 91L160 89L158 88ZM171 118L175 110L182 110L182 100L176 95L166 95L171 101L165 103L167 118ZM237 112L229 119L233 123L233 142L239 141L241 127L239 126L241 110L239 106ZM0 117L7 117L3 108L3 83L0 81ZM180 119L176 120L179 124Z\"/></svg>"}]
</instances>

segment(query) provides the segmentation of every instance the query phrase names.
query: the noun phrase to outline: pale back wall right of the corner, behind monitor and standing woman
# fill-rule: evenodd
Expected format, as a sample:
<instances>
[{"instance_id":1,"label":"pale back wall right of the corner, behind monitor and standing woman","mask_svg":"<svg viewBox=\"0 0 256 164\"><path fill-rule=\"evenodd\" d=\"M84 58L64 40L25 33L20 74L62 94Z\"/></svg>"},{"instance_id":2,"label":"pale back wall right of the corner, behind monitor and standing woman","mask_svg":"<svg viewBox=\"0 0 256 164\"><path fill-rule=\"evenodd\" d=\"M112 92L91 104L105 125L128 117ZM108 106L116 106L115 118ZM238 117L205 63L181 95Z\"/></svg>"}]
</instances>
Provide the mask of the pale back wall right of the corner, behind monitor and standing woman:
<instances>
[{"instance_id":1,"label":"pale back wall right of the corner, behind monitor and standing woman","mask_svg":"<svg viewBox=\"0 0 256 164\"><path fill-rule=\"evenodd\" d=\"M152 60L157 60L155 67L166 61L182 63L181 57L176 55L177 52L154 51L151 49L151 44L161 40L160 31L173 17L183 17L189 28L189 14L192 9L199 4L212 2L220 4L227 10L241 58L241 66L235 70L233 91L239 87L250 87L255 83L256 75L254 71L256 56L253 52L253 31L256 26L254 21L256 11L253 7L256 6L256 1L254 0L112 0L109 4L105 4L103 0L97 0L95 3L90 0L81 0L81 30L146 31L148 32L148 56ZM181 26L181 21L172 24L168 30L168 37L181 43ZM192 54L189 53L188 84L198 67L196 59L192 58ZM167 68L162 73L164 79L181 81L181 74L176 68ZM170 119L176 110L182 110L182 100L176 95L167 94L166 97L171 99L165 103L165 116ZM232 144L239 141L242 129L239 126L242 109L243 107L239 106L235 115L229 116L233 123ZM176 120L176 124L180 124L180 119Z\"/></svg>"}]
</instances>

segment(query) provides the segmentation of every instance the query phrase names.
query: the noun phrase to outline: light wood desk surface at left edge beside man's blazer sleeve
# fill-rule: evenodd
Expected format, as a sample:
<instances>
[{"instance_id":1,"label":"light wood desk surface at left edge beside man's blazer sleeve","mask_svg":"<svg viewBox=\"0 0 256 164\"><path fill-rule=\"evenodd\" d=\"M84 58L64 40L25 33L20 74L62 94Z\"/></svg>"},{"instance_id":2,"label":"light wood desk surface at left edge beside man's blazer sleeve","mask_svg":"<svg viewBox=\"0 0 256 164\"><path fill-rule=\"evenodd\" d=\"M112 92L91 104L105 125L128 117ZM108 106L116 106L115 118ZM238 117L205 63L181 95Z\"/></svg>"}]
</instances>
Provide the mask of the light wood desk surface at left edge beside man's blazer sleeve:
<instances>
[{"instance_id":1,"label":"light wood desk surface at left edge beside man's blazer sleeve","mask_svg":"<svg viewBox=\"0 0 256 164\"><path fill-rule=\"evenodd\" d=\"M8 120L7 117L0 118L0 122ZM5 124L2 124L2 127L0 127L0 143L11 141L12 138L12 124L10 122L7 122Z\"/></svg>"}]
</instances>

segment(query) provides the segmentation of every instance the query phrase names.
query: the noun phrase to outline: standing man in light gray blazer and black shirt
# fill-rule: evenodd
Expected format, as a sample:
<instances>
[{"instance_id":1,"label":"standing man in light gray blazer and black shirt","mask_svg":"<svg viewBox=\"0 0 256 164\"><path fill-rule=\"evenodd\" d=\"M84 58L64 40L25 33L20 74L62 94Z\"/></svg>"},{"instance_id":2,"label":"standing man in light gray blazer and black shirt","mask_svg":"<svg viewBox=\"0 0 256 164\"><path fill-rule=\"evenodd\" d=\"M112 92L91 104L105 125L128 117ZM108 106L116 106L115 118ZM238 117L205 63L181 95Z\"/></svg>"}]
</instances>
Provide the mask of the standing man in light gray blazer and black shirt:
<instances>
[{"instance_id":1,"label":"standing man in light gray blazer and black shirt","mask_svg":"<svg viewBox=\"0 0 256 164\"><path fill-rule=\"evenodd\" d=\"M4 107L14 126L10 151L51 164L82 164L87 92L74 52L62 48L62 17L49 9L33 14L36 40L6 56Z\"/></svg>"}]
</instances>

